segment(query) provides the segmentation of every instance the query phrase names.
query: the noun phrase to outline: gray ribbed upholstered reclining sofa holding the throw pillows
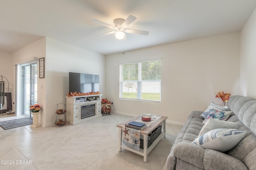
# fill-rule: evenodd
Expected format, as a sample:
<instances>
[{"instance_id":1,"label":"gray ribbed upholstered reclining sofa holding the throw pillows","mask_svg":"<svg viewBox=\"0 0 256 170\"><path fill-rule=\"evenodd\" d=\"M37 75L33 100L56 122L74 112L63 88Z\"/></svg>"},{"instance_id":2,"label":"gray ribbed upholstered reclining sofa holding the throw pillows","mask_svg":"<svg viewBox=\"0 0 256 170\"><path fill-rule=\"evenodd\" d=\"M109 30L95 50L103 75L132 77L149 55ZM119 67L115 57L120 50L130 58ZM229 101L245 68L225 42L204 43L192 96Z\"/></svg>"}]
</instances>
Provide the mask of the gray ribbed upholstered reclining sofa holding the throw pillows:
<instances>
[{"instance_id":1,"label":"gray ribbed upholstered reclining sofa holding the throw pillows","mask_svg":"<svg viewBox=\"0 0 256 170\"><path fill-rule=\"evenodd\" d=\"M192 144L204 125L202 111L192 111L168 155L167 170L256 170L256 100L231 96L227 106L232 111L227 121L246 131L244 139L226 152Z\"/></svg>"}]
</instances>

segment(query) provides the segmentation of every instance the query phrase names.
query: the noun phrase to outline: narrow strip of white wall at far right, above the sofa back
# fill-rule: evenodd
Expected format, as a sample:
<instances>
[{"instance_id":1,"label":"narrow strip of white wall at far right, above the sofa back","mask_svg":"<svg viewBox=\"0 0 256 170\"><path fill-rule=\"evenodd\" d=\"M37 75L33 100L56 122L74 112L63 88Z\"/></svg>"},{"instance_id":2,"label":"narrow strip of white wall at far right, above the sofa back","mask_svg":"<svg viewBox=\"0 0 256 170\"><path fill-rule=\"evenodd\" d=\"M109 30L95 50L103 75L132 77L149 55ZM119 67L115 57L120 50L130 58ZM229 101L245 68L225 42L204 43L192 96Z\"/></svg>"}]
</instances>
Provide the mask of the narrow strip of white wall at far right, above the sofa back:
<instances>
[{"instance_id":1,"label":"narrow strip of white wall at far right, above the sofa back","mask_svg":"<svg viewBox=\"0 0 256 170\"><path fill-rule=\"evenodd\" d=\"M256 10L241 31L240 56L243 95L256 98Z\"/></svg>"}]
</instances>

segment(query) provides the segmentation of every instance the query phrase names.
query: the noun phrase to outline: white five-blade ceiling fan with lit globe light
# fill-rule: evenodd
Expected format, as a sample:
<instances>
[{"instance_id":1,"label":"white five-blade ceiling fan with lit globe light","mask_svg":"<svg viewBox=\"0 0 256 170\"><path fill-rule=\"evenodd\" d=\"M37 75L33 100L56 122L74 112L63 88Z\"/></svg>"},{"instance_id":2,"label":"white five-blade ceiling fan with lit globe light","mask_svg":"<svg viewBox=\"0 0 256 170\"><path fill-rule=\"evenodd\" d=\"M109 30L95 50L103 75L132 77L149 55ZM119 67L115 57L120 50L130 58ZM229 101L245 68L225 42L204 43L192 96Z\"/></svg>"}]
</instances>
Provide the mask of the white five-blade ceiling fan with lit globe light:
<instances>
[{"instance_id":1,"label":"white five-blade ceiling fan with lit globe light","mask_svg":"<svg viewBox=\"0 0 256 170\"><path fill-rule=\"evenodd\" d=\"M104 23L104 22L98 21L98 20L92 20L92 21L95 22L95 23L98 23L100 25L104 25L106 27L115 29L115 31L111 31L111 32L104 33L104 34L101 34L101 35L109 35L109 34L115 33L117 39L123 39L124 38L124 32L134 33L134 34L141 34L141 35L148 35L149 34L148 31L139 31L139 30L133 30L133 29L126 29L126 27L128 27L128 25L130 25L136 19L137 18L135 16L132 16L132 15L128 16L126 18L126 20L116 19L116 20L114 20L115 26L108 25L107 23Z\"/></svg>"}]
</instances>

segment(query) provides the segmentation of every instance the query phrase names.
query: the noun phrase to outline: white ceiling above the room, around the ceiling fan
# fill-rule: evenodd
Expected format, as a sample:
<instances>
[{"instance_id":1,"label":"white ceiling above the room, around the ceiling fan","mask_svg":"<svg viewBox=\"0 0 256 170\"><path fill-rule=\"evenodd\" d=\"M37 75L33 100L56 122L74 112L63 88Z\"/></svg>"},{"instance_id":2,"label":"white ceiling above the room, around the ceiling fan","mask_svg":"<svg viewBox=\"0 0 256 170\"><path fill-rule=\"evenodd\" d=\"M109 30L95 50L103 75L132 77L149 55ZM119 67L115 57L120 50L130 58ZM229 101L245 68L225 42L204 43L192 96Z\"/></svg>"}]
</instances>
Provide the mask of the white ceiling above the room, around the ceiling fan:
<instances>
[{"instance_id":1,"label":"white ceiling above the room, around the ceiling fan","mask_svg":"<svg viewBox=\"0 0 256 170\"><path fill-rule=\"evenodd\" d=\"M240 31L256 0L0 0L0 51L50 37L104 55ZM92 22L137 18L118 40Z\"/></svg>"}]
</instances>

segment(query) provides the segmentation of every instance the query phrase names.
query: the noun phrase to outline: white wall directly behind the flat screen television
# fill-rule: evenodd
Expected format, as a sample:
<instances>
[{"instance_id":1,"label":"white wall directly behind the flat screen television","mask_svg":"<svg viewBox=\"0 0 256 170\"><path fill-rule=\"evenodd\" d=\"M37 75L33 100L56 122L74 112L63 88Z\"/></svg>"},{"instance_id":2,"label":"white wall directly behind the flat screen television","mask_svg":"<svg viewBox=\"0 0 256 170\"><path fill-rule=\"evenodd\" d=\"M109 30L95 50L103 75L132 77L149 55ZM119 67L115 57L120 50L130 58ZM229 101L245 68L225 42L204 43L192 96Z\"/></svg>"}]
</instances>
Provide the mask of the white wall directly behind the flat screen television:
<instances>
[{"instance_id":1,"label":"white wall directly behind the flat screen television","mask_svg":"<svg viewBox=\"0 0 256 170\"><path fill-rule=\"evenodd\" d=\"M100 92L105 96L105 58L104 55L46 38L46 126L54 124L56 104L66 103L68 72L99 74Z\"/></svg>"}]
</instances>

